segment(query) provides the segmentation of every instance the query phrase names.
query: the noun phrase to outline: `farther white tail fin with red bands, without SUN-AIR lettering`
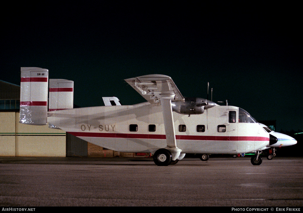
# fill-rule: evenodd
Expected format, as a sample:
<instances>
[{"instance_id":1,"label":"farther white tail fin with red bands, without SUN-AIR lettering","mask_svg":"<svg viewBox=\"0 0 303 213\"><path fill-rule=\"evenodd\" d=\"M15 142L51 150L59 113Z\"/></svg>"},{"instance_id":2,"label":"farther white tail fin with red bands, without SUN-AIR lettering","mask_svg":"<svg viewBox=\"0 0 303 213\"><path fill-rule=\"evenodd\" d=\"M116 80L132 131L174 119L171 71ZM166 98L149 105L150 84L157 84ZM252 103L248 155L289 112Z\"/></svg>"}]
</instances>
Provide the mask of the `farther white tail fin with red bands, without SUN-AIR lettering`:
<instances>
[{"instance_id":1,"label":"farther white tail fin with red bands, without SUN-AIR lettering","mask_svg":"<svg viewBox=\"0 0 303 213\"><path fill-rule=\"evenodd\" d=\"M74 82L65 79L49 79L48 111L72 109L74 105Z\"/></svg>"}]
</instances>

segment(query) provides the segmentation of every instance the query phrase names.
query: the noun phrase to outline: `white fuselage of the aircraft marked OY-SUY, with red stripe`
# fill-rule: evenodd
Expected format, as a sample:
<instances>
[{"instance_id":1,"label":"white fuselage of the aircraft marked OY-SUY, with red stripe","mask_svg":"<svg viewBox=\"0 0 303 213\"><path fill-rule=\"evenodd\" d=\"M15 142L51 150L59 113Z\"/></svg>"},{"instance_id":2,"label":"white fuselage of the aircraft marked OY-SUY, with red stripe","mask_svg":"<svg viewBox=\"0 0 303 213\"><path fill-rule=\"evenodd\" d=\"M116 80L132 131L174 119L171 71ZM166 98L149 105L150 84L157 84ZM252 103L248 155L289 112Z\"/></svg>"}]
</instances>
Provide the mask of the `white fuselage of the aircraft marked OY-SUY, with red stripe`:
<instances>
[{"instance_id":1,"label":"white fuselage of the aircraft marked OY-SUY, with red stripe","mask_svg":"<svg viewBox=\"0 0 303 213\"><path fill-rule=\"evenodd\" d=\"M239 123L238 110L217 105L190 117L174 112L176 143L181 153L239 154L268 146L269 134L259 123ZM229 123L229 111L236 111L237 122ZM167 146L162 108L148 102L49 113L49 124L107 149L148 153Z\"/></svg>"}]
</instances>

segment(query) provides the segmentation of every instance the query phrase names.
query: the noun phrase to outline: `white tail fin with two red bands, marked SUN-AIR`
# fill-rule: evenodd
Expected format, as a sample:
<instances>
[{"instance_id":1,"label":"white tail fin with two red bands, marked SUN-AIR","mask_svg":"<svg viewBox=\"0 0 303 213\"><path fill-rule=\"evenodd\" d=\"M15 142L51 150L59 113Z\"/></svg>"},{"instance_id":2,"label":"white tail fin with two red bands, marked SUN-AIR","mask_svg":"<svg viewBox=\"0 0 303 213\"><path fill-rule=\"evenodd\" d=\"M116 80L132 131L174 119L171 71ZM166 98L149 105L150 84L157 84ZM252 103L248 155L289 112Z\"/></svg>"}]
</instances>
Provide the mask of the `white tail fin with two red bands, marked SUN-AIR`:
<instances>
[{"instance_id":1,"label":"white tail fin with two red bands, marked SUN-AIR","mask_svg":"<svg viewBox=\"0 0 303 213\"><path fill-rule=\"evenodd\" d=\"M48 69L21 67L20 123L47 123Z\"/></svg>"}]
</instances>

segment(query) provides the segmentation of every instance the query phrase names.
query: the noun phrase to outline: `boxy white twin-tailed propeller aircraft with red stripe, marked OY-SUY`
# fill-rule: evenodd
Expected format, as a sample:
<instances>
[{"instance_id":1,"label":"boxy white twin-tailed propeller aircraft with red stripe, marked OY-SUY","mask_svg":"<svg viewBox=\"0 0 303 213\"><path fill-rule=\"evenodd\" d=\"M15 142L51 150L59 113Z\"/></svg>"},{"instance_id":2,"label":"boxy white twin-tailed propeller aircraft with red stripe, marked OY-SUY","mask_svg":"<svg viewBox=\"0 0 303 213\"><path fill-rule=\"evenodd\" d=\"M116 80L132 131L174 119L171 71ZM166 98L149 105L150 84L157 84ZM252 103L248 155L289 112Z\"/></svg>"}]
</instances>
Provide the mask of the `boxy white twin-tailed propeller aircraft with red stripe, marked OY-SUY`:
<instances>
[{"instance_id":1,"label":"boxy white twin-tailed propeller aircraft with red stripe, marked OY-SUY","mask_svg":"<svg viewBox=\"0 0 303 213\"><path fill-rule=\"evenodd\" d=\"M147 102L73 109L73 81L22 67L19 122L48 124L110 150L151 153L158 166L176 164L185 154L205 160L209 154L251 152L251 163L261 164L259 150L269 145L269 133L245 110L183 97L165 75L125 81Z\"/></svg>"}]
</instances>

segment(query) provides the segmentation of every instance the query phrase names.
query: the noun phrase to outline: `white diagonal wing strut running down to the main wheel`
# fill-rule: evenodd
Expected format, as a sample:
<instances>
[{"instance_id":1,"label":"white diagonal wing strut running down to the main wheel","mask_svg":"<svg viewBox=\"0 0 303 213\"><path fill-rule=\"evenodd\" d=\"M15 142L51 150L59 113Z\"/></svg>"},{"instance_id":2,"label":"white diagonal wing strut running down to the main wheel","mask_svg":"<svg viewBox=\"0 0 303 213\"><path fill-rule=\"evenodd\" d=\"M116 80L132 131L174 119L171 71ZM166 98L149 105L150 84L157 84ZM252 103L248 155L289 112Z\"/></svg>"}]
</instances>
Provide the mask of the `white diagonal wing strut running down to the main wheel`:
<instances>
[{"instance_id":1,"label":"white diagonal wing strut running down to the main wheel","mask_svg":"<svg viewBox=\"0 0 303 213\"><path fill-rule=\"evenodd\" d=\"M175 161L179 157L182 150L177 147L177 143L176 143L174 119L173 119L172 108L171 108L171 99L174 99L174 96L161 97L161 106L162 106L162 113L164 120L166 143L167 143L166 149L168 149L171 152L172 160Z\"/></svg>"}]
</instances>

